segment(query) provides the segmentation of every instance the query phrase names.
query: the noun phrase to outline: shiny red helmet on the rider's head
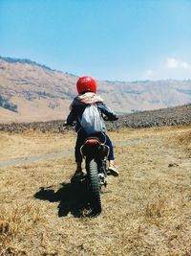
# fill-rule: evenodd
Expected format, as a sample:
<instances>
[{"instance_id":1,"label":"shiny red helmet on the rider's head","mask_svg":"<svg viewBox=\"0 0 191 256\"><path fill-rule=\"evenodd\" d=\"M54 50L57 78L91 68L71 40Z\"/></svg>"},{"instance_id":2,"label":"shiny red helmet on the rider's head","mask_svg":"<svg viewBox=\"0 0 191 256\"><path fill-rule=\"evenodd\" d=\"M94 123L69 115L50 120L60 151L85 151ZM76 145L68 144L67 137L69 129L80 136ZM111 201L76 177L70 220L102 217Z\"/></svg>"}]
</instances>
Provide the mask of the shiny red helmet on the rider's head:
<instances>
[{"instance_id":1,"label":"shiny red helmet on the rider's head","mask_svg":"<svg viewBox=\"0 0 191 256\"><path fill-rule=\"evenodd\" d=\"M96 80L91 77L82 77L76 82L76 88L79 94L87 91L96 93Z\"/></svg>"}]
</instances>

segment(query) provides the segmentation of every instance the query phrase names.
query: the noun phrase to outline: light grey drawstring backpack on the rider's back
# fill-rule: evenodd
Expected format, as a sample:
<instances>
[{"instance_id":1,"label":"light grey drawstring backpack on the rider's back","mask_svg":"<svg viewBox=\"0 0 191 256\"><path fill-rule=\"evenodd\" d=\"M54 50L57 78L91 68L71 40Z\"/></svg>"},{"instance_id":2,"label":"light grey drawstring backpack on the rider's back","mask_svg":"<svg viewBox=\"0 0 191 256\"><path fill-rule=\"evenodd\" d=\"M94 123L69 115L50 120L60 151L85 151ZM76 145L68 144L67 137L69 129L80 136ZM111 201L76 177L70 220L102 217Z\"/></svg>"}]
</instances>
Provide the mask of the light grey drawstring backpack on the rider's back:
<instances>
[{"instance_id":1,"label":"light grey drawstring backpack on the rider's back","mask_svg":"<svg viewBox=\"0 0 191 256\"><path fill-rule=\"evenodd\" d=\"M87 105L78 121L87 134L105 130L105 124L97 105Z\"/></svg>"}]
</instances>

